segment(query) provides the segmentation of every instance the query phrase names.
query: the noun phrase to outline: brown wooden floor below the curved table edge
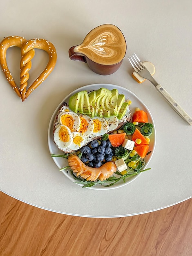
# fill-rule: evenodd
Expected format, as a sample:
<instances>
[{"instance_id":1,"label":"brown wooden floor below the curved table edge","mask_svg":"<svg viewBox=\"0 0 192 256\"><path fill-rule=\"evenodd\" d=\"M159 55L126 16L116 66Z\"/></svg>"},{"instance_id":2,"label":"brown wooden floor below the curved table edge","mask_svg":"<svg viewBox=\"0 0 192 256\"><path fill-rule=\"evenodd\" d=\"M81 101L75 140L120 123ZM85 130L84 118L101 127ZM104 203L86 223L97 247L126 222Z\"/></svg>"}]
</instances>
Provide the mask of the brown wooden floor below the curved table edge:
<instances>
[{"instance_id":1,"label":"brown wooden floor below the curved table edge","mask_svg":"<svg viewBox=\"0 0 192 256\"><path fill-rule=\"evenodd\" d=\"M125 218L67 216L0 192L0 256L191 256L192 199Z\"/></svg>"}]
</instances>

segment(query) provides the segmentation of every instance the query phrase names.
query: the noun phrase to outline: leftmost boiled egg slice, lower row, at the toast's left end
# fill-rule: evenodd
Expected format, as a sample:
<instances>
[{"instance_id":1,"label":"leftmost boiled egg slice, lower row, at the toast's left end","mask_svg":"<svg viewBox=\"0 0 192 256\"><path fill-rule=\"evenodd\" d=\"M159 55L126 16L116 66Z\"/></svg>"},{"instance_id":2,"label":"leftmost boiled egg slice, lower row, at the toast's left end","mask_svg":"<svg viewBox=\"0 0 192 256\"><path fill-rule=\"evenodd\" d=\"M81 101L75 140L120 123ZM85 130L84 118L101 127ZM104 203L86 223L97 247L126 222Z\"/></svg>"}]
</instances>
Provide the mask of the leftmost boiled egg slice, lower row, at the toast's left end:
<instances>
[{"instance_id":1,"label":"leftmost boiled egg slice, lower row, at the toast's left end","mask_svg":"<svg viewBox=\"0 0 192 256\"><path fill-rule=\"evenodd\" d=\"M70 129L64 125L59 126L54 132L54 141L61 149L70 146L73 142Z\"/></svg>"}]
</instances>

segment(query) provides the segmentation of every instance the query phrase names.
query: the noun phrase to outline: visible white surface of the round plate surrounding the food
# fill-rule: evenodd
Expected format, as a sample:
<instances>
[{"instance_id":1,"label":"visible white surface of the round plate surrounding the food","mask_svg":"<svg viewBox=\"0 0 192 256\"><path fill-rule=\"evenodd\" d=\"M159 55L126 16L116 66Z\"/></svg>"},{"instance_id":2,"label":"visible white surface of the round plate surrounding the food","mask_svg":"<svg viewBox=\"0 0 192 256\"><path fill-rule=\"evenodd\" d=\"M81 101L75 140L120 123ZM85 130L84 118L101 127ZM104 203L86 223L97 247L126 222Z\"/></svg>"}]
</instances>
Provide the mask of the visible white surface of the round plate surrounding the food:
<instances>
[{"instance_id":1,"label":"visible white surface of the round plate surrounding the food","mask_svg":"<svg viewBox=\"0 0 192 256\"><path fill-rule=\"evenodd\" d=\"M118 85L103 84L103 83L86 85L86 86L83 86L81 88L78 88L74 92L71 92L67 97L65 97L65 99L63 99L63 101L59 104L58 108L53 113L53 115L51 117L51 120L50 120L50 123L49 123L49 130L48 130L48 146L49 146L49 151L50 151L51 154L56 154L56 155L62 155L63 154L63 152L58 149L58 147L54 143L54 139L53 139L53 123L54 123L54 119L55 119L56 113L58 112L58 109L60 108L61 104L64 101L68 103L69 98L71 97L71 95L76 93L76 92L80 92L80 91L83 91L83 90L87 90L89 92L89 91L92 91L92 90L98 90L99 88L107 88L109 90L117 89L119 94L124 94L125 95L125 99L129 99L129 100L132 101L131 105L129 106L131 111L132 111L132 113L134 112L134 109L136 107L138 107L141 110L147 112L148 122L153 124L153 126L154 126L154 121L153 121L153 118L152 118L152 115L151 115L149 109L143 103L143 101L141 101L134 93L132 93L129 90L127 90L127 89L125 89L125 88L123 88L121 86L118 86ZM153 133L150 136L150 139L151 139L151 141L150 141L150 145L149 145L150 146L149 151L152 151L152 152L145 157L145 163L146 164L145 164L144 168L147 168L147 166L148 166L148 164L150 162L150 159L152 158L152 155L154 153L155 143L156 143L156 130L155 130L155 126L154 126ZM53 160L54 160L54 162L56 163L56 165L58 166L59 169L65 167L65 166L68 166L67 159L65 159L63 157L53 157ZM62 172L72 182L76 181L72 177L70 172L67 173L65 170L62 171ZM139 175L141 175L141 173L127 178L125 182L123 182L123 180L119 181L116 184L114 184L113 186L105 187L103 185L96 184L96 185L90 187L89 189L96 189L96 190L116 189L116 188L119 188L121 186L125 186L125 185L129 184L130 182L135 180ZM76 183L76 184L78 184L78 183ZM78 185L79 186L83 186L82 184L78 184Z\"/></svg>"}]
</instances>

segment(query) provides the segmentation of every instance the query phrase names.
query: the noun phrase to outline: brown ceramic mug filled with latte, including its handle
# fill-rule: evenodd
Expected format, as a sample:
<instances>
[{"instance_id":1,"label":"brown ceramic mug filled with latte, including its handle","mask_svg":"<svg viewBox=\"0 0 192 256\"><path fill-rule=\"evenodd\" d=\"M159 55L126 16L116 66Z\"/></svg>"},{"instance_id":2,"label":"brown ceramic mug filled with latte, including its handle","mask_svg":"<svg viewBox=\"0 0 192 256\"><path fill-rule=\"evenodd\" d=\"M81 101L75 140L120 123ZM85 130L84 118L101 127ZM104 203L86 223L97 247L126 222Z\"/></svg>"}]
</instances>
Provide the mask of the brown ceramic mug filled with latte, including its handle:
<instances>
[{"instance_id":1,"label":"brown ceramic mug filled with latte, including its handle","mask_svg":"<svg viewBox=\"0 0 192 256\"><path fill-rule=\"evenodd\" d=\"M69 58L87 63L97 74L109 75L121 66L126 49L121 30L112 24L104 24L92 29L83 43L71 47Z\"/></svg>"}]
</instances>

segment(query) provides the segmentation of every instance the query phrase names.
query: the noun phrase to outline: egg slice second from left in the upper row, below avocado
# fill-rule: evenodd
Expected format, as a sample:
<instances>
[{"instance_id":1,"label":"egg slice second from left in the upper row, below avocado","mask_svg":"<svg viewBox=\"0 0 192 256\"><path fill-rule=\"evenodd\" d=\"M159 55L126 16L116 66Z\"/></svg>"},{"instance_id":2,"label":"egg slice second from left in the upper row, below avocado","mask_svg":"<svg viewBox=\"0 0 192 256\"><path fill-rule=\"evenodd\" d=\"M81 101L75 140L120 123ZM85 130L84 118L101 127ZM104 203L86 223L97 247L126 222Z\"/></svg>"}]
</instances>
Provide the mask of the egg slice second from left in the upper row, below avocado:
<instances>
[{"instance_id":1,"label":"egg slice second from left in the upper row, below avocado","mask_svg":"<svg viewBox=\"0 0 192 256\"><path fill-rule=\"evenodd\" d=\"M83 136L89 136L94 130L94 123L91 117L87 115L80 115L80 128L78 132L80 132Z\"/></svg>"}]
</instances>

